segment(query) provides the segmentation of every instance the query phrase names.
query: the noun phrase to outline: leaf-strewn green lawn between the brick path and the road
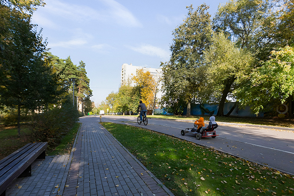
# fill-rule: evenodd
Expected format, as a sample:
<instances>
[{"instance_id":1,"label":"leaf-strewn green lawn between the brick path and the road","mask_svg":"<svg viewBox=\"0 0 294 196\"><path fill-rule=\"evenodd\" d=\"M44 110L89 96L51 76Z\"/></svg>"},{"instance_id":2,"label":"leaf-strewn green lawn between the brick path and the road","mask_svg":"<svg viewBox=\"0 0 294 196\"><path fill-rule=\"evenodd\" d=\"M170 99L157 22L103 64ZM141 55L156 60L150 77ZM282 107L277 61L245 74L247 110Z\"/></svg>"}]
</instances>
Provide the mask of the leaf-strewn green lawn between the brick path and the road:
<instances>
[{"instance_id":1,"label":"leaf-strewn green lawn between the brick path and the road","mask_svg":"<svg viewBox=\"0 0 294 196\"><path fill-rule=\"evenodd\" d=\"M176 196L293 195L294 176L143 128L101 124Z\"/></svg>"}]
</instances>

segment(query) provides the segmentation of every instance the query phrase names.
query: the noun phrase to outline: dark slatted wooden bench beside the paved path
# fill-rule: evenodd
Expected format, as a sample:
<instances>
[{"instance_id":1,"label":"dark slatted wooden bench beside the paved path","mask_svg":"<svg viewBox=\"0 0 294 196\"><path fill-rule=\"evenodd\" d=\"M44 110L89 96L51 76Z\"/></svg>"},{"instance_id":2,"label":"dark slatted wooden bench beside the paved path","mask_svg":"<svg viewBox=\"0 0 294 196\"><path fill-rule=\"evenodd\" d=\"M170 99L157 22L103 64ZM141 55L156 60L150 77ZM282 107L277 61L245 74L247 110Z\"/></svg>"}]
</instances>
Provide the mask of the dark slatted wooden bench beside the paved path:
<instances>
[{"instance_id":1,"label":"dark slatted wooden bench beside the paved path","mask_svg":"<svg viewBox=\"0 0 294 196\"><path fill-rule=\"evenodd\" d=\"M0 196L17 177L31 176L31 164L36 159L45 159L47 142L29 143L0 160Z\"/></svg>"}]
</instances>

